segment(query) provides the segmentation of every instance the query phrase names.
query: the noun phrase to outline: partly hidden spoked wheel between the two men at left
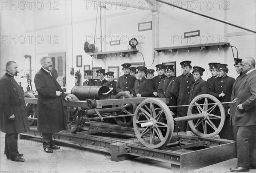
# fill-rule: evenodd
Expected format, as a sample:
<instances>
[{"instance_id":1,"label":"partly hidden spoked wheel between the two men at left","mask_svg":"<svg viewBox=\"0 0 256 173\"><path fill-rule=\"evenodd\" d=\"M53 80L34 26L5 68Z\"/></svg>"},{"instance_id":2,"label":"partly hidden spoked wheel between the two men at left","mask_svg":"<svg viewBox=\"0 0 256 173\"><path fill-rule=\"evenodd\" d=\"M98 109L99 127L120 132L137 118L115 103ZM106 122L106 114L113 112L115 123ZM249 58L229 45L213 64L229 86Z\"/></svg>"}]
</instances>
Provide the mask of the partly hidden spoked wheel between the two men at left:
<instances>
[{"instance_id":1,"label":"partly hidden spoked wheel between the two men at left","mask_svg":"<svg viewBox=\"0 0 256 173\"><path fill-rule=\"evenodd\" d=\"M32 94L31 92L28 92L24 95L24 98L35 98L35 95ZM35 126L37 123L37 120L30 119L30 118L38 117L37 104L26 103L26 111L28 115L29 126Z\"/></svg>"}]
</instances>

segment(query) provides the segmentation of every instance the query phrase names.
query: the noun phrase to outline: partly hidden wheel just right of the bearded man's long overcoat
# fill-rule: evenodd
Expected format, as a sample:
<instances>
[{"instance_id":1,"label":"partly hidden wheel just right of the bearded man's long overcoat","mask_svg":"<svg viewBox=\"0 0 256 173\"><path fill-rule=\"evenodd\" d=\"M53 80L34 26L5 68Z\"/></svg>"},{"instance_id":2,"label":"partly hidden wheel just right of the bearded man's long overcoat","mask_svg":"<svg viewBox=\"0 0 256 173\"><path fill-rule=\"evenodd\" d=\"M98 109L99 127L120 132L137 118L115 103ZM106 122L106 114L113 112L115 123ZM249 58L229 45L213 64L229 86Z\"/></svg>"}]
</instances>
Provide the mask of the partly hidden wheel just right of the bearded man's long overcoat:
<instances>
[{"instance_id":1,"label":"partly hidden wheel just right of the bearded man's long overcoat","mask_svg":"<svg viewBox=\"0 0 256 173\"><path fill-rule=\"evenodd\" d=\"M79 100L76 95L68 94L71 100ZM80 107L67 107L67 132L76 133L80 130L81 126L81 108Z\"/></svg>"}]
</instances>

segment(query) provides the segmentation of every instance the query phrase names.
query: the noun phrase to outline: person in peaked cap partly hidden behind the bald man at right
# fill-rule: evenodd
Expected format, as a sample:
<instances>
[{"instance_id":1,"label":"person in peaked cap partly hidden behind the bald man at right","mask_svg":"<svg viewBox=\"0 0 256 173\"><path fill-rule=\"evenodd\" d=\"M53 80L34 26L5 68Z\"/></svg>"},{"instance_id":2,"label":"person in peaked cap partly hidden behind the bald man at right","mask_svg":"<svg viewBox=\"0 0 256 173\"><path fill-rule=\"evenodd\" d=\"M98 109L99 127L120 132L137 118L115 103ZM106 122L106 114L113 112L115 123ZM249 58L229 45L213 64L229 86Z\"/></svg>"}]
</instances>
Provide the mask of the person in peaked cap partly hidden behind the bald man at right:
<instances>
[{"instance_id":1,"label":"person in peaked cap partly hidden behind the bald man at right","mask_svg":"<svg viewBox=\"0 0 256 173\"><path fill-rule=\"evenodd\" d=\"M233 84L230 101L233 101L234 99L236 99L237 94L238 94L238 92L237 92L238 88L241 85L244 77L246 76L246 74L242 72L243 69L242 69L242 66L241 66L241 62L242 62L242 59L240 59L240 58L235 59L234 66L236 67L236 72L240 75L236 78L236 81ZM230 108L227 110L227 113L230 115L230 125L232 127L233 134L234 134L234 139L236 141L236 136L235 136L235 133L234 133L234 128L237 127L237 126L234 126L234 117L235 117L235 113L236 113L236 103L233 103L233 104L231 103L230 104Z\"/></svg>"}]
</instances>

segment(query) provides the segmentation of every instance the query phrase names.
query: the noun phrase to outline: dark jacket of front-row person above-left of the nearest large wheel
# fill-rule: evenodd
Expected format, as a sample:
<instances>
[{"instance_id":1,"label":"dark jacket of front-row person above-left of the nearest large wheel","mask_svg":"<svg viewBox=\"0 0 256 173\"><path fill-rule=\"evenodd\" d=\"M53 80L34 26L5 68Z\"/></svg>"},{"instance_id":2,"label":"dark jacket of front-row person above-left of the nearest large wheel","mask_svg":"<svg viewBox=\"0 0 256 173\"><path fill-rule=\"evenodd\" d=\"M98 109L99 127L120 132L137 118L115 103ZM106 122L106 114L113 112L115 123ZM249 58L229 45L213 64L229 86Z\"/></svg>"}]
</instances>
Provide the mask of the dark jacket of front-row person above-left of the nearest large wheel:
<instances>
[{"instance_id":1,"label":"dark jacket of front-row person above-left of the nearest large wheel","mask_svg":"<svg viewBox=\"0 0 256 173\"><path fill-rule=\"evenodd\" d=\"M136 97L138 93L141 94L141 97L151 97L153 93L151 81L146 78L137 79L134 83L132 94Z\"/></svg>"}]
</instances>

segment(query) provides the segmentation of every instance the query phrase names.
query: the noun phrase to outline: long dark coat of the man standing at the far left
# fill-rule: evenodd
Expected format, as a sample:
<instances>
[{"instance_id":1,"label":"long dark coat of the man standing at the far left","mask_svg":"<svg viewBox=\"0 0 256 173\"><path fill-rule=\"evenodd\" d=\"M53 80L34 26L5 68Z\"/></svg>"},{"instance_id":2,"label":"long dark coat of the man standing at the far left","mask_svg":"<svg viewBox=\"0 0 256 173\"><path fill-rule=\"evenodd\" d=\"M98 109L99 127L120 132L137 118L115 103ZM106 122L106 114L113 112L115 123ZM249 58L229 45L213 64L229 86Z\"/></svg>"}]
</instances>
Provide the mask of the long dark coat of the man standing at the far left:
<instances>
[{"instance_id":1,"label":"long dark coat of the man standing at the far left","mask_svg":"<svg viewBox=\"0 0 256 173\"><path fill-rule=\"evenodd\" d=\"M0 79L0 110L0 130L3 133L25 133L29 130L23 92L8 73ZM9 120L13 114L15 119Z\"/></svg>"}]
</instances>

